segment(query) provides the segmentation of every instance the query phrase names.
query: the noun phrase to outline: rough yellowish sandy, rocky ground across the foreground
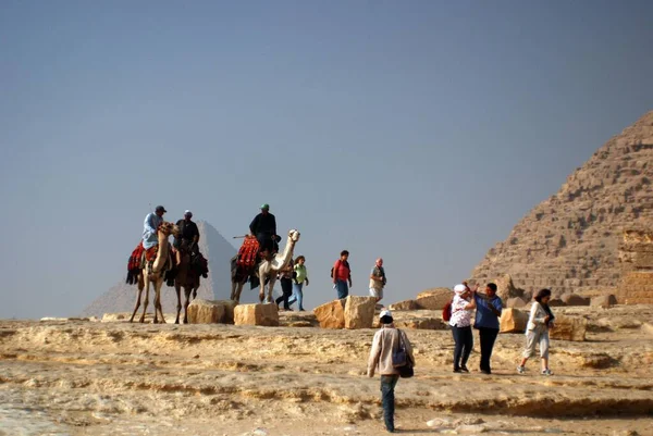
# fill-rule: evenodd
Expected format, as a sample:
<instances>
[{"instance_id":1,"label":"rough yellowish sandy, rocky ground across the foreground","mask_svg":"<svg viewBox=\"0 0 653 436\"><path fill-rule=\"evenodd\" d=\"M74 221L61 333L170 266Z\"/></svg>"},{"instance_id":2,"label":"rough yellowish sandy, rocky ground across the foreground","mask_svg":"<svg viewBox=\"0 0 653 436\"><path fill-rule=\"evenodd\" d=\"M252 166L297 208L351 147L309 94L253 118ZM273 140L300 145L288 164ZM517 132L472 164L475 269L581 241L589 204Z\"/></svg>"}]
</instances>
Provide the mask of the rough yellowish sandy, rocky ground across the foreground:
<instances>
[{"instance_id":1,"label":"rough yellowish sandy, rocky ground across the foreground","mask_svg":"<svg viewBox=\"0 0 653 436\"><path fill-rule=\"evenodd\" d=\"M451 372L446 331L408 331L416 376L397 385L401 434L653 435L653 307L566 308L584 342L515 372L523 335L500 335L494 374ZM373 329L0 321L0 435L384 434Z\"/></svg>"}]
</instances>

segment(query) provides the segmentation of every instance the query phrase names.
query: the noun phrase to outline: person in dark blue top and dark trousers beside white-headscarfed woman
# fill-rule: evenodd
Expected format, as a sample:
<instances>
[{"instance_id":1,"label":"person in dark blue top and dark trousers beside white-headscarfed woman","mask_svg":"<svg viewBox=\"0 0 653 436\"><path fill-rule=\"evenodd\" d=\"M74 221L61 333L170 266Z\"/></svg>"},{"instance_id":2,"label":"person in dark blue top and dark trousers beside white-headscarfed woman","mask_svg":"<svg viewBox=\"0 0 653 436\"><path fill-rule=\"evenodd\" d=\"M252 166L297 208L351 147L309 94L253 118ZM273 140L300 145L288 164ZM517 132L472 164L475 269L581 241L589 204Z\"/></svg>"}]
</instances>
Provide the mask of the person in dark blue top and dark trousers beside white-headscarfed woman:
<instances>
[{"instance_id":1,"label":"person in dark blue top and dark trousers beside white-headscarfed woman","mask_svg":"<svg viewBox=\"0 0 653 436\"><path fill-rule=\"evenodd\" d=\"M498 319L503 308L501 298L496 295L496 285L489 283L485 286L485 294L475 292L473 298L477 303L476 322L473 327L479 331L481 338L481 364L480 370L483 374L492 374L490 358L494 341L498 335Z\"/></svg>"}]
</instances>

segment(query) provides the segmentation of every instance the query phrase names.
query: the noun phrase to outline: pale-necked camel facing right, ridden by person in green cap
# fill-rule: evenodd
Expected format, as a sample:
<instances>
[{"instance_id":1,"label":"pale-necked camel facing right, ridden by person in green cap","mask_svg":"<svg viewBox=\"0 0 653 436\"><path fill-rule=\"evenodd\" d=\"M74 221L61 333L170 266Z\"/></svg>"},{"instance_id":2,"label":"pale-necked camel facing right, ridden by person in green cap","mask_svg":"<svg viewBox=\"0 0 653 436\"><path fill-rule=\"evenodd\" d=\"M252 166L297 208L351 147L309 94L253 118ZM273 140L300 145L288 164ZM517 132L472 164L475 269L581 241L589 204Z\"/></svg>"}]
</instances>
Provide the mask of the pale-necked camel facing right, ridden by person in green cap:
<instances>
[{"instance_id":1,"label":"pale-necked camel facing right, ridden by person in green cap","mask_svg":"<svg viewBox=\"0 0 653 436\"><path fill-rule=\"evenodd\" d=\"M232 273L231 299L236 302L241 301L243 286L247 282L247 278L256 273L260 281L259 300L263 302L266 299L266 279L269 279L267 300L268 302L272 302L272 289L274 289L276 274L291 262L291 259L293 259L293 250L298 240L299 232L292 229L288 232L288 238L282 253L276 253L271 260L263 259L255 265L254 271L242 271L241 266L234 265L233 267L235 267L235 270Z\"/></svg>"}]
</instances>

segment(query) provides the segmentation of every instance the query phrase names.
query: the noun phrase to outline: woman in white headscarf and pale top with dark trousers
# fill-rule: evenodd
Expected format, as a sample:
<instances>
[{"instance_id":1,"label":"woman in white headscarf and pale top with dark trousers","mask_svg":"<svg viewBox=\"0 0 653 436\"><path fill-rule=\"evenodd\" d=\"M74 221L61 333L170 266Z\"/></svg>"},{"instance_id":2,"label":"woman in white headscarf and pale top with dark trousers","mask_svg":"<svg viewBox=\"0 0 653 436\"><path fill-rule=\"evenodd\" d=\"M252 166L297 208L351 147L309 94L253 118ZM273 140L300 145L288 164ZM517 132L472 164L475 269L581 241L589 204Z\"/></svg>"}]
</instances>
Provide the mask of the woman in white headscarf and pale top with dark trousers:
<instances>
[{"instance_id":1,"label":"woman in white headscarf and pale top with dark trousers","mask_svg":"<svg viewBox=\"0 0 653 436\"><path fill-rule=\"evenodd\" d=\"M478 287L478 286L477 286ZM467 285L454 287L454 300L452 301L452 319L449 325L454 335L454 372L468 373L467 359L473 347L471 335L471 311L476 309L473 291Z\"/></svg>"}]
</instances>

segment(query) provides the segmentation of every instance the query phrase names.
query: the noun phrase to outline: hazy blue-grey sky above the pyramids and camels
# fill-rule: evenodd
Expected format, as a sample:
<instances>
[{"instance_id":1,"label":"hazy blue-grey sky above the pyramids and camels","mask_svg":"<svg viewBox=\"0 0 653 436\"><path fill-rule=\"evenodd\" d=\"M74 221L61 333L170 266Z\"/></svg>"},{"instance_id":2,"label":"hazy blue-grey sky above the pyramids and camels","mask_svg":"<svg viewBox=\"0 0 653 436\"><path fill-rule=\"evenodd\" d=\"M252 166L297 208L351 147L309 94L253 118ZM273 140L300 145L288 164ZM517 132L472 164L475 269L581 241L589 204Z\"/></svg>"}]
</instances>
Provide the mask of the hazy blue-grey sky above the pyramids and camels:
<instances>
[{"instance_id":1,"label":"hazy blue-grey sky above the pyramids and camels","mask_svg":"<svg viewBox=\"0 0 653 436\"><path fill-rule=\"evenodd\" d=\"M79 313L145 215L301 232L308 309L466 278L653 109L653 2L0 2L0 317ZM219 278L229 286L229 277Z\"/></svg>"}]
</instances>

